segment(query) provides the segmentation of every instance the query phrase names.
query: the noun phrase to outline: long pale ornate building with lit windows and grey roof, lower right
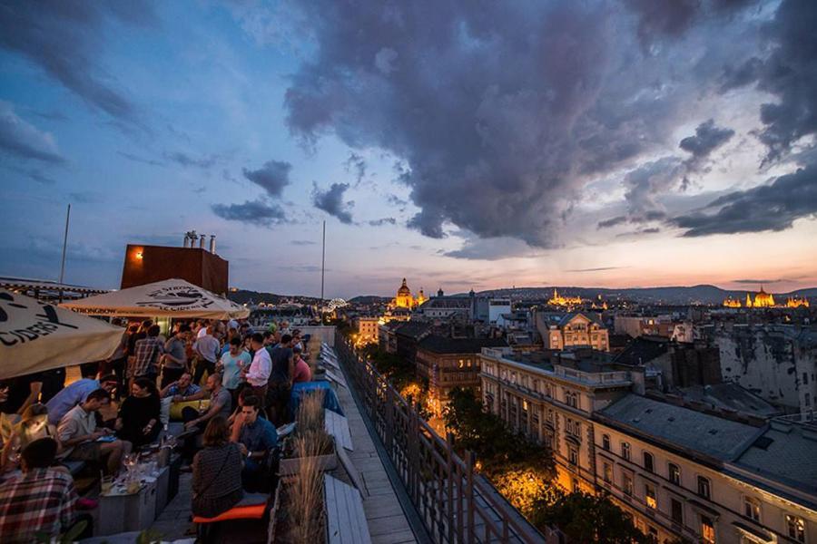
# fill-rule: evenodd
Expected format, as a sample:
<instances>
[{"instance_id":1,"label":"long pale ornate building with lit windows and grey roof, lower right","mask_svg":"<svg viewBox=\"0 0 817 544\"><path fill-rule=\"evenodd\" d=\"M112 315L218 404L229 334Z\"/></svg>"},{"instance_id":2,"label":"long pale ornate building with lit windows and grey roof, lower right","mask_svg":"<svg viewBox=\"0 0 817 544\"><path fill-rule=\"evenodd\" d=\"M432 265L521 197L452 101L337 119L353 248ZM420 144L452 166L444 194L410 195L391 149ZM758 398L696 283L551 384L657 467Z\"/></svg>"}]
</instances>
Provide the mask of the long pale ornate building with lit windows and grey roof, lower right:
<instances>
[{"instance_id":1,"label":"long pale ornate building with lit windows and grey roof, lower right","mask_svg":"<svg viewBox=\"0 0 817 544\"><path fill-rule=\"evenodd\" d=\"M563 488L610 493L656 542L817 542L817 427L655 401L631 393L635 371L481 359L487 410L551 448Z\"/></svg>"}]
</instances>

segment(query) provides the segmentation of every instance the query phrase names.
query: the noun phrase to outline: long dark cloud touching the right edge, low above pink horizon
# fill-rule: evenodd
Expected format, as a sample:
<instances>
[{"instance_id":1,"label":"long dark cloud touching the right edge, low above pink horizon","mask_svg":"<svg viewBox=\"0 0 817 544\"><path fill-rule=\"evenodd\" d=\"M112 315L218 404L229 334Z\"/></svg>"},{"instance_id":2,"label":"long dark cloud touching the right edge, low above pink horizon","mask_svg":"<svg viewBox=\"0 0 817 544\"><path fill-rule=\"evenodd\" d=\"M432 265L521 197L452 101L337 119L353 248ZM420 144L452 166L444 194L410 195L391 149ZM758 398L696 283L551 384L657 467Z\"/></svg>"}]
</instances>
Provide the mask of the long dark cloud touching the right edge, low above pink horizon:
<instances>
[{"instance_id":1,"label":"long dark cloud touching the right edge, low above pink horizon","mask_svg":"<svg viewBox=\"0 0 817 544\"><path fill-rule=\"evenodd\" d=\"M714 212L709 212L714 209ZM795 219L817 214L817 163L771 183L714 199L703 210L676 217L684 237L791 228Z\"/></svg>"}]
</instances>

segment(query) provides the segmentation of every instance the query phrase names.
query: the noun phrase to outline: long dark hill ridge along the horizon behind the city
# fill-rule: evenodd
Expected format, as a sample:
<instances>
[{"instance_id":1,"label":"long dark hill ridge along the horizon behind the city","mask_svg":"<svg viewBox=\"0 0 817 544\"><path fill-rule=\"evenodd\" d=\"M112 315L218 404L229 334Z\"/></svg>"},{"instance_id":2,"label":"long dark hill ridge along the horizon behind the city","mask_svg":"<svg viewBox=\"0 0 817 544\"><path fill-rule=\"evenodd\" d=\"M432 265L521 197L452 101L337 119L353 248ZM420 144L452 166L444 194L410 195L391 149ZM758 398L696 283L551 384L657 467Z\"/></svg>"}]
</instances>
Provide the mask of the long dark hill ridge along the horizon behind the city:
<instances>
[{"instance_id":1,"label":"long dark hill ridge along the horizon behind the city","mask_svg":"<svg viewBox=\"0 0 817 544\"><path fill-rule=\"evenodd\" d=\"M743 299L746 293L753 290L727 290L721 287L700 285L692 287L628 287L624 289L610 289L606 287L514 287L481 291L479 296L503 296L516 300L540 300L553 295L556 288L559 294L566 296L581 296L582 298L603 298L612 300L632 300L647 304L721 304L727 296ZM798 289L788 293L773 293L775 297L785 299L788 296L817 297L817 287Z\"/></svg>"}]
</instances>

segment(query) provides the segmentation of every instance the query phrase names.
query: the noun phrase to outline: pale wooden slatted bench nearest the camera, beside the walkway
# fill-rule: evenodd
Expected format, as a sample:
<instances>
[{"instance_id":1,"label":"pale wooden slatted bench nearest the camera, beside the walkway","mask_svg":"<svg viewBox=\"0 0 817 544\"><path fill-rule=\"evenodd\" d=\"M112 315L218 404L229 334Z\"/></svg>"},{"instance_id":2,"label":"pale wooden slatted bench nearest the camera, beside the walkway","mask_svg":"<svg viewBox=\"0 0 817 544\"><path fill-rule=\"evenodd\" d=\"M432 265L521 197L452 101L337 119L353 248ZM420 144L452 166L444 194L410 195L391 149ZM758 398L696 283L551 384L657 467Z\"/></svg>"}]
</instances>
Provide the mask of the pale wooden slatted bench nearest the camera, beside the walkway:
<instances>
[{"instance_id":1,"label":"pale wooden slatted bench nearest the camera, beside the walkway","mask_svg":"<svg viewBox=\"0 0 817 544\"><path fill-rule=\"evenodd\" d=\"M323 477L326 500L327 542L330 544L366 544L371 542L369 523L363 511L360 493L329 474Z\"/></svg>"}]
</instances>

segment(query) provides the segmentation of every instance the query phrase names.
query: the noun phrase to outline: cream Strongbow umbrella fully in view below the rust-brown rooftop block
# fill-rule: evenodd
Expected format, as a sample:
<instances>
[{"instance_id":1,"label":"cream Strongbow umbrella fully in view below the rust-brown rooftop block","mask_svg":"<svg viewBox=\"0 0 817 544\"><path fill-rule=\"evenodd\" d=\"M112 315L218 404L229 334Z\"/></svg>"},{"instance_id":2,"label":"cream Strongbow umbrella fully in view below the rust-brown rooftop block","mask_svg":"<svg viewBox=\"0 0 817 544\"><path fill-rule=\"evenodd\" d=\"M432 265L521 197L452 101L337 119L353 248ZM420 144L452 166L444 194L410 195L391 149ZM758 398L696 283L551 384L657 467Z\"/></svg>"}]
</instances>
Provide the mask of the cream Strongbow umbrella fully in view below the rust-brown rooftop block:
<instances>
[{"instance_id":1,"label":"cream Strongbow umbrella fully in view below the rust-brown rooftop block","mask_svg":"<svg viewBox=\"0 0 817 544\"><path fill-rule=\"evenodd\" d=\"M238 319L250 310L183 279L165 279L61 304L89 316Z\"/></svg>"}]
</instances>

